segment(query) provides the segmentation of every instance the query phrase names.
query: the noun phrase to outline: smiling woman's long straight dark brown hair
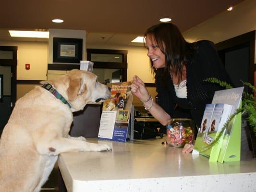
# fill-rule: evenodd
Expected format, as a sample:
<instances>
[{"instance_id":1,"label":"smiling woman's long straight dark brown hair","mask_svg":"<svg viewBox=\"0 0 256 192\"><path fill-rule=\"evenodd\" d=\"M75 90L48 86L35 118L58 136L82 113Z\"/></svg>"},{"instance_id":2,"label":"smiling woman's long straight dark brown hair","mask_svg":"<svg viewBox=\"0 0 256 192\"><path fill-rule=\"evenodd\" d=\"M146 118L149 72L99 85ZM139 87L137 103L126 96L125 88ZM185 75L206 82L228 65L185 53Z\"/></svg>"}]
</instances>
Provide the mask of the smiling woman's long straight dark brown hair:
<instances>
[{"instance_id":1,"label":"smiling woman's long straight dark brown hair","mask_svg":"<svg viewBox=\"0 0 256 192\"><path fill-rule=\"evenodd\" d=\"M158 48L165 54L166 67L164 73L172 70L181 80L183 65L195 52L195 44L188 43L182 36L179 28L171 23L159 23L148 28L144 38L154 38ZM144 43L145 46L145 43ZM150 60L151 69L155 72L152 60Z\"/></svg>"}]
</instances>

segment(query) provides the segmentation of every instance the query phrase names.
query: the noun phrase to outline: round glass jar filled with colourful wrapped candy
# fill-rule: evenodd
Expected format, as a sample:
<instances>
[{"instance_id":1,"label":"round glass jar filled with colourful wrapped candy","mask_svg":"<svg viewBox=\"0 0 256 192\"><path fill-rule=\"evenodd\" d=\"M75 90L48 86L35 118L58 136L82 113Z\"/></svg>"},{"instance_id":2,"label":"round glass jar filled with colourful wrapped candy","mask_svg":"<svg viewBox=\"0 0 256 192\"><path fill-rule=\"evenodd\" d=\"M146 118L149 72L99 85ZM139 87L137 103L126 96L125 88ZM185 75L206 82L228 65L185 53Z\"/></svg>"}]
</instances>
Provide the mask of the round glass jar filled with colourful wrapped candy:
<instances>
[{"instance_id":1,"label":"round glass jar filled with colourful wrapped candy","mask_svg":"<svg viewBox=\"0 0 256 192\"><path fill-rule=\"evenodd\" d=\"M166 127L166 143L174 147L183 147L194 142L195 123L190 119L171 119Z\"/></svg>"}]
</instances>

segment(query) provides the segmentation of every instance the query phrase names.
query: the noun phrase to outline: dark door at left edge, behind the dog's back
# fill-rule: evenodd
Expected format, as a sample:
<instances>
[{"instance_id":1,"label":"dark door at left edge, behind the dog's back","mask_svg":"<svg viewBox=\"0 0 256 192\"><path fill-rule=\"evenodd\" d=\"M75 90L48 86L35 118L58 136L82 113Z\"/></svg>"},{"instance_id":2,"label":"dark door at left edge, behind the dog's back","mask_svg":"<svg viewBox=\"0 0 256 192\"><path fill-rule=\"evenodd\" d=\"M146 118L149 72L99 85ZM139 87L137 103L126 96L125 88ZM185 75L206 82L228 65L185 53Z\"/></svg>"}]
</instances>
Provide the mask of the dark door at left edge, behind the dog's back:
<instances>
[{"instance_id":1,"label":"dark door at left edge, behind the dog's back","mask_svg":"<svg viewBox=\"0 0 256 192\"><path fill-rule=\"evenodd\" d=\"M0 46L0 75L2 99L0 100L0 133L10 118L16 102L17 47Z\"/></svg>"}]
</instances>

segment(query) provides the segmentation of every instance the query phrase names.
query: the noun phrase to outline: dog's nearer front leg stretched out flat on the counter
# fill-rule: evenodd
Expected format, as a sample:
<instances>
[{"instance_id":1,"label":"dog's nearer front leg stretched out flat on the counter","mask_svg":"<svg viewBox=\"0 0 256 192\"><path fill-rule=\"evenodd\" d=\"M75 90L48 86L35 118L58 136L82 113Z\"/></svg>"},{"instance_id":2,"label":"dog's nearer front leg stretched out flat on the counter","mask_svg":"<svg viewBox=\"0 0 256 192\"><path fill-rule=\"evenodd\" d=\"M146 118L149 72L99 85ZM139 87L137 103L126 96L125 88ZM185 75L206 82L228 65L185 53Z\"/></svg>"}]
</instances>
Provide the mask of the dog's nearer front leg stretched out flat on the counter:
<instances>
[{"instance_id":1,"label":"dog's nearer front leg stretched out flat on the counter","mask_svg":"<svg viewBox=\"0 0 256 192\"><path fill-rule=\"evenodd\" d=\"M110 151L107 144L94 144L68 138L56 138L49 142L37 144L37 150L43 155L59 155L64 152L74 151Z\"/></svg>"}]
</instances>

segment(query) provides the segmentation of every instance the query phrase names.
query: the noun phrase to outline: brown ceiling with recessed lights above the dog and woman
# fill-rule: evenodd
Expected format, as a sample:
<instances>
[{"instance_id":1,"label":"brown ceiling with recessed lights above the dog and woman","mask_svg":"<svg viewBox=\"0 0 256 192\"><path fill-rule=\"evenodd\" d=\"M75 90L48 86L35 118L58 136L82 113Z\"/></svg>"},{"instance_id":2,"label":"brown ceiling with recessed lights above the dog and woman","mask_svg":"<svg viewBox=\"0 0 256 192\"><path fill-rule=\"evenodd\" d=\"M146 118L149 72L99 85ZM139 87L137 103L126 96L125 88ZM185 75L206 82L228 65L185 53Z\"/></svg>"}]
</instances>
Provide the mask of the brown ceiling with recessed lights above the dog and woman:
<instances>
[{"instance_id":1,"label":"brown ceiling with recessed lights above the dog and woman","mask_svg":"<svg viewBox=\"0 0 256 192\"><path fill-rule=\"evenodd\" d=\"M86 43L141 45L131 41L160 18L171 17L182 32L226 11L243 0L6 0L1 2L0 41L8 29L50 28L86 31ZM61 18L62 24L51 20ZM30 38L30 41L46 41Z\"/></svg>"}]
</instances>

